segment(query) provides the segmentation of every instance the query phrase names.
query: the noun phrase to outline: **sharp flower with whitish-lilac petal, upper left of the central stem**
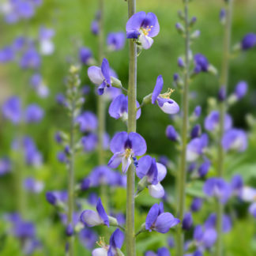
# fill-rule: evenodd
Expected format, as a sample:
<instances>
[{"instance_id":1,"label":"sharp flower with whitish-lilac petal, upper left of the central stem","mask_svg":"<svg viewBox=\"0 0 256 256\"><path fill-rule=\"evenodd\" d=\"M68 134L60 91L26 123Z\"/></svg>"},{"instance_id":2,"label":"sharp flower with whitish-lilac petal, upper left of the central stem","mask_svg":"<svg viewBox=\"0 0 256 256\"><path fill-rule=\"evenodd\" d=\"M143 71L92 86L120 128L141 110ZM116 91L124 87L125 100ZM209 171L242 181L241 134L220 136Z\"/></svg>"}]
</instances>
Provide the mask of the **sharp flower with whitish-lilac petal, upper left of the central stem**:
<instances>
[{"instance_id":1,"label":"sharp flower with whitish-lilac petal, upper left of the central stem","mask_svg":"<svg viewBox=\"0 0 256 256\"><path fill-rule=\"evenodd\" d=\"M88 77L93 84L98 86L98 94L104 93L104 88L111 86L111 69L107 58L104 58L101 67L90 66L88 68Z\"/></svg>"}]
</instances>

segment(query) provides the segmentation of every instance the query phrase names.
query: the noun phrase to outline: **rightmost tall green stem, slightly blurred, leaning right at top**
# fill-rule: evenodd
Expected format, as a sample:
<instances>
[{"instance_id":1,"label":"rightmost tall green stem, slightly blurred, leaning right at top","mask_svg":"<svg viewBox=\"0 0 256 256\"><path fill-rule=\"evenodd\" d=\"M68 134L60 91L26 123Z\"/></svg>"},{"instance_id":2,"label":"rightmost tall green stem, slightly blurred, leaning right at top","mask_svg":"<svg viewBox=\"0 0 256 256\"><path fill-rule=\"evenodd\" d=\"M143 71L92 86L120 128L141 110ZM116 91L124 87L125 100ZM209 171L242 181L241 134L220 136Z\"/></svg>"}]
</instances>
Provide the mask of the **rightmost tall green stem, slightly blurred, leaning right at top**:
<instances>
[{"instance_id":1,"label":"rightmost tall green stem, slightly blurred, leaning right at top","mask_svg":"<svg viewBox=\"0 0 256 256\"><path fill-rule=\"evenodd\" d=\"M228 88L228 71L229 71L229 57L230 57L230 44L232 36L232 5L233 0L228 1L226 11L226 23L224 26L224 45L223 45L223 59L222 69L220 76L220 88L227 91ZM217 175L223 177L224 175L224 149L221 145L221 139L224 134L224 117L226 115L226 102L225 100L220 103L220 132L218 141L218 158L217 158ZM217 202L217 241L216 241L216 256L222 255L222 218L223 218L223 205L220 201Z\"/></svg>"}]
</instances>

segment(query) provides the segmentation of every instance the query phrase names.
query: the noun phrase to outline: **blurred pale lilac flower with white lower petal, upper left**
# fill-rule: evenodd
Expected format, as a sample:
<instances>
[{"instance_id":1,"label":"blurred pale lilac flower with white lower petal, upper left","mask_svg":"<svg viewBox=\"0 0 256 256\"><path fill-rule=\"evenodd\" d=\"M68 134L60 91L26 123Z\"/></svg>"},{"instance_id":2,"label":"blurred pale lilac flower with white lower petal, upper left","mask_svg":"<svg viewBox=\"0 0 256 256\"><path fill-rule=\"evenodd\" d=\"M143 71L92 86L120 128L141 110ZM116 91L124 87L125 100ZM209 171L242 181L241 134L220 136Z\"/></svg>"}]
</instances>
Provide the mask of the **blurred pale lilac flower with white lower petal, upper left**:
<instances>
[{"instance_id":1,"label":"blurred pale lilac flower with white lower petal, upper left","mask_svg":"<svg viewBox=\"0 0 256 256\"><path fill-rule=\"evenodd\" d=\"M40 28L39 41L40 41L40 53L42 55L52 55L55 51L55 44L51 38L55 36L55 31L51 28Z\"/></svg>"}]
</instances>

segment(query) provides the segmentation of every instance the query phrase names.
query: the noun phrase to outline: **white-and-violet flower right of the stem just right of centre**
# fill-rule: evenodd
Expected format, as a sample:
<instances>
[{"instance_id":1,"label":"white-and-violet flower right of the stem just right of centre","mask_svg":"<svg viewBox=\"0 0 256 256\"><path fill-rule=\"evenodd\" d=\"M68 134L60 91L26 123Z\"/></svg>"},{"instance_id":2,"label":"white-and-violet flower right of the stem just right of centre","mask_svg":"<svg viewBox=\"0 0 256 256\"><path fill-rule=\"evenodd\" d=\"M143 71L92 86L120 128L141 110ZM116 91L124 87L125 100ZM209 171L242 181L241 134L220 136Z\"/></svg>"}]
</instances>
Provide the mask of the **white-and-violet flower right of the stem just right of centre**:
<instances>
[{"instance_id":1,"label":"white-and-violet flower right of the stem just right of centre","mask_svg":"<svg viewBox=\"0 0 256 256\"><path fill-rule=\"evenodd\" d=\"M186 147L186 160L188 162L194 162L194 160L197 160L198 157L203 154L207 145L207 134L201 134L201 137L195 137L192 139Z\"/></svg>"}]
</instances>

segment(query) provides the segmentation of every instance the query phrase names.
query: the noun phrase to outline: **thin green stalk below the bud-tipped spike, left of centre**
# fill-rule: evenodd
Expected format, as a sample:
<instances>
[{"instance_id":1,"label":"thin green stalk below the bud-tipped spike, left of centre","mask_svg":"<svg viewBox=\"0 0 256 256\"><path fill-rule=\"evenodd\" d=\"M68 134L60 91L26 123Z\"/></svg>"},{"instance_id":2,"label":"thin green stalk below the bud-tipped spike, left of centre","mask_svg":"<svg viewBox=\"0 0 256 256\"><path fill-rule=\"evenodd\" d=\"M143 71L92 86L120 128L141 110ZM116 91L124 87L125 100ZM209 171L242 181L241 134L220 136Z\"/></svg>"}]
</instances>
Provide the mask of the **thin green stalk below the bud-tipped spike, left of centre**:
<instances>
[{"instance_id":1,"label":"thin green stalk below the bud-tipped spike, left of centre","mask_svg":"<svg viewBox=\"0 0 256 256\"><path fill-rule=\"evenodd\" d=\"M75 100L71 104L71 118L70 118L70 162L68 170L68 224L73 224L73 206L74 206L74 113L75 113ZM68 255L73 256L73 235L69 238Z\"/></svg>"}]
</instances>

